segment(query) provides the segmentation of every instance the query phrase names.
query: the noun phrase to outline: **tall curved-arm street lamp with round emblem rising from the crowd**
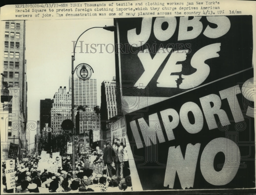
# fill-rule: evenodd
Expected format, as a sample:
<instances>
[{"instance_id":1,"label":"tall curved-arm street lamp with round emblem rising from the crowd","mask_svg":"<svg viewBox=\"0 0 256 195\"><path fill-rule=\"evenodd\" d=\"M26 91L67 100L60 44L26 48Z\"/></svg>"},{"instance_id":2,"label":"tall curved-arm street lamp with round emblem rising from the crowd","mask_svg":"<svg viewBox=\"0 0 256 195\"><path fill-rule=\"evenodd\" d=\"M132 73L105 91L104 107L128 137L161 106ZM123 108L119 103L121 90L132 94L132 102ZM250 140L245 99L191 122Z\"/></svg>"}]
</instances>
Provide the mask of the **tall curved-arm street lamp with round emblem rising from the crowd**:
<instances>
[{"instance_id":1,"label":"tall curved-arm street lamp with round emblem rising from the crowd","mask_svg":"<svg viewBox=\"0 0 256 195\"><path fill-rule=\"evenodd\" d=\"M73 124L75 124L75 118L74 118L74 115L75 115L75 112L74 112L74 72L75 70L77 69L77 67L79 65L82 65L82 64L79 64L75 69L74 69L74 61L75 61L75 50L76 50L76 45L77 45L77 42L79 40L79 38L88 30L90 29L93 29L93 28L103 28L105 30L108 30L108 31L115 31L116 30L116 26L104 26L104 27L92 27L92 28L89 28L87 30L85 30L82 34L79 35L79 37L77 38L77 41L75 42L75 45L74 45L74 51L73 51L73 54L71 56L72 58L72 67L71 67L71 75L72 75L72 78L71 78L71 88L72 88L72 122ZM83 64L83 66L85 65L88 65L88 64ZM89 65L88 65L89 66ZM80 67L80 66L79 66ZM89 66L90 67L90 66ZM90 67L91 68L91 67ZM82 69L85 69L85 68L82 68ZM92 69L92 68L91 68ZM93 71L93 70L92 70ZM82 76L82 75L81 75ZM89 77L89 73L88 73L88 77ZM86 79L89 79L89 78L86 78ZM82 79L82 78L81 78ZM72 167L73 167L73 173L75 171L75 128L73 127L72 128ZM74 178L74 174L73 174L73 178Z\"/></svg>"}]
</instances>

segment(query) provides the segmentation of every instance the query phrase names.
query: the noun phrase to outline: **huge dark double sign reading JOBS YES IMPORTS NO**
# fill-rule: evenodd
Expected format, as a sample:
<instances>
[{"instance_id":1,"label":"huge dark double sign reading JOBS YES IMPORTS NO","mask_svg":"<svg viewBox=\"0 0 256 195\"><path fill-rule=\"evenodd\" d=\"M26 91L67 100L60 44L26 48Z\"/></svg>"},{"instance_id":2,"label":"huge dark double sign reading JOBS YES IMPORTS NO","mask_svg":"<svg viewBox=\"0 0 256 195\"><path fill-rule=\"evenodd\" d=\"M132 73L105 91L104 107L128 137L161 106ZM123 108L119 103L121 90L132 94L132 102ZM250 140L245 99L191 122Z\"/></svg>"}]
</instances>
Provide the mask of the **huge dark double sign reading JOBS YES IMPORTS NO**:
<instances>
[{"instance_id":1,"label":"huge dark double sign reading JOBS YES IMPORTS NO","mask_svg":"<svg viewBox=\"0 0 256 195\"><path fill-rule=\"evenodd\" d=\"M143 190L255 187L252 16L116 25L121 98L165 97L125 115Z\"/></svg>"}]
</instances>

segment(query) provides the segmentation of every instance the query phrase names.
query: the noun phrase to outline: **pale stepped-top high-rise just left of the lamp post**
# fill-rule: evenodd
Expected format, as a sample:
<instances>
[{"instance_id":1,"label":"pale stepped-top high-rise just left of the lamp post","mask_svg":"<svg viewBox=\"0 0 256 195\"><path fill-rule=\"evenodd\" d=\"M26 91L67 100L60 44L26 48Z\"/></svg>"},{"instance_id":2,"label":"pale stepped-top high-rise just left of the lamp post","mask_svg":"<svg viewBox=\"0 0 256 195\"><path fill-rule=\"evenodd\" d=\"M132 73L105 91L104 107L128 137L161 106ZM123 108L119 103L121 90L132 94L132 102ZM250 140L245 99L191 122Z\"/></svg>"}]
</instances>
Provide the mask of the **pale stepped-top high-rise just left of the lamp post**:
<instances>
[{"instance_id":1,"label":"pale stepped-top high-rise just left of the lamp post","mask_svg":"<svg viewBox=\"0 0 256 195\"><path fill-rule=\"evenodd\" d=\"M53 97L50 123L49 126L52 128L52 135L59 135L62 133L61 123L66 119L71 119L71 92L67 92L66 87L60 87L58 92Z\"/></svg>"}]
</instances>

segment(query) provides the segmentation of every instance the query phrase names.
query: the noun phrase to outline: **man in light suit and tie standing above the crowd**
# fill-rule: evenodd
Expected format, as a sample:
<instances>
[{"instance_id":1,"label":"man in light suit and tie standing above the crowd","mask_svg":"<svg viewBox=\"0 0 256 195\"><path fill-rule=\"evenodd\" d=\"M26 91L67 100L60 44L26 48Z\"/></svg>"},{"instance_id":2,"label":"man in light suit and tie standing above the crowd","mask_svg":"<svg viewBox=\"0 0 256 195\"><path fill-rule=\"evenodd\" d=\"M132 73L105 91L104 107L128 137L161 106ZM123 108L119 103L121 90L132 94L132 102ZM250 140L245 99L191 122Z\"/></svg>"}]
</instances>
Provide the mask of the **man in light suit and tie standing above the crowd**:
<instances>
[{"instance_id":1,"label":"man in light suit and tie standing above the crowd","mask_svg":"<svg viewBox=\"0 0 256 195\"><path fill-rule=\"evenodd\" d=\"M115 156L113 157L115 163L116 175L121 176L123 178L123 156L124 150L123 147L120 146L119 139L116 141L116 147L113 147L113 151Z\"/></svg>"}]
</instances>

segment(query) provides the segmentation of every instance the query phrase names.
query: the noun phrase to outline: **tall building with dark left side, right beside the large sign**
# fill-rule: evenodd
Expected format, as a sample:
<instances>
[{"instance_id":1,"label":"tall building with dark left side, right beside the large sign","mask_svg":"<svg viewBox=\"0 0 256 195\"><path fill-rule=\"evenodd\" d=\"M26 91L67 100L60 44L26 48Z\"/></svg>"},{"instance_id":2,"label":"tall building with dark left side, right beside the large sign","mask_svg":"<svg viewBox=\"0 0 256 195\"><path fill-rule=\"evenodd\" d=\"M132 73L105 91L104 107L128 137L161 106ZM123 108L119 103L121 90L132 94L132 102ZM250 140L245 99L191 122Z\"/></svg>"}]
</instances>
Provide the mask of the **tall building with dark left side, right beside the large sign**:
<instances>
[{"instance_id":1,"label":"tall building with dark left side, right beside the large sign","mask_svg":"<svg viewBox=\"0 0 256 195\"><path fill-rule=\"evenodd\" d=\"M117 115L116 107L116 79L101 83L101 121L102 130L106 128L106 121Z\"/></svg>"}]
</instances>

